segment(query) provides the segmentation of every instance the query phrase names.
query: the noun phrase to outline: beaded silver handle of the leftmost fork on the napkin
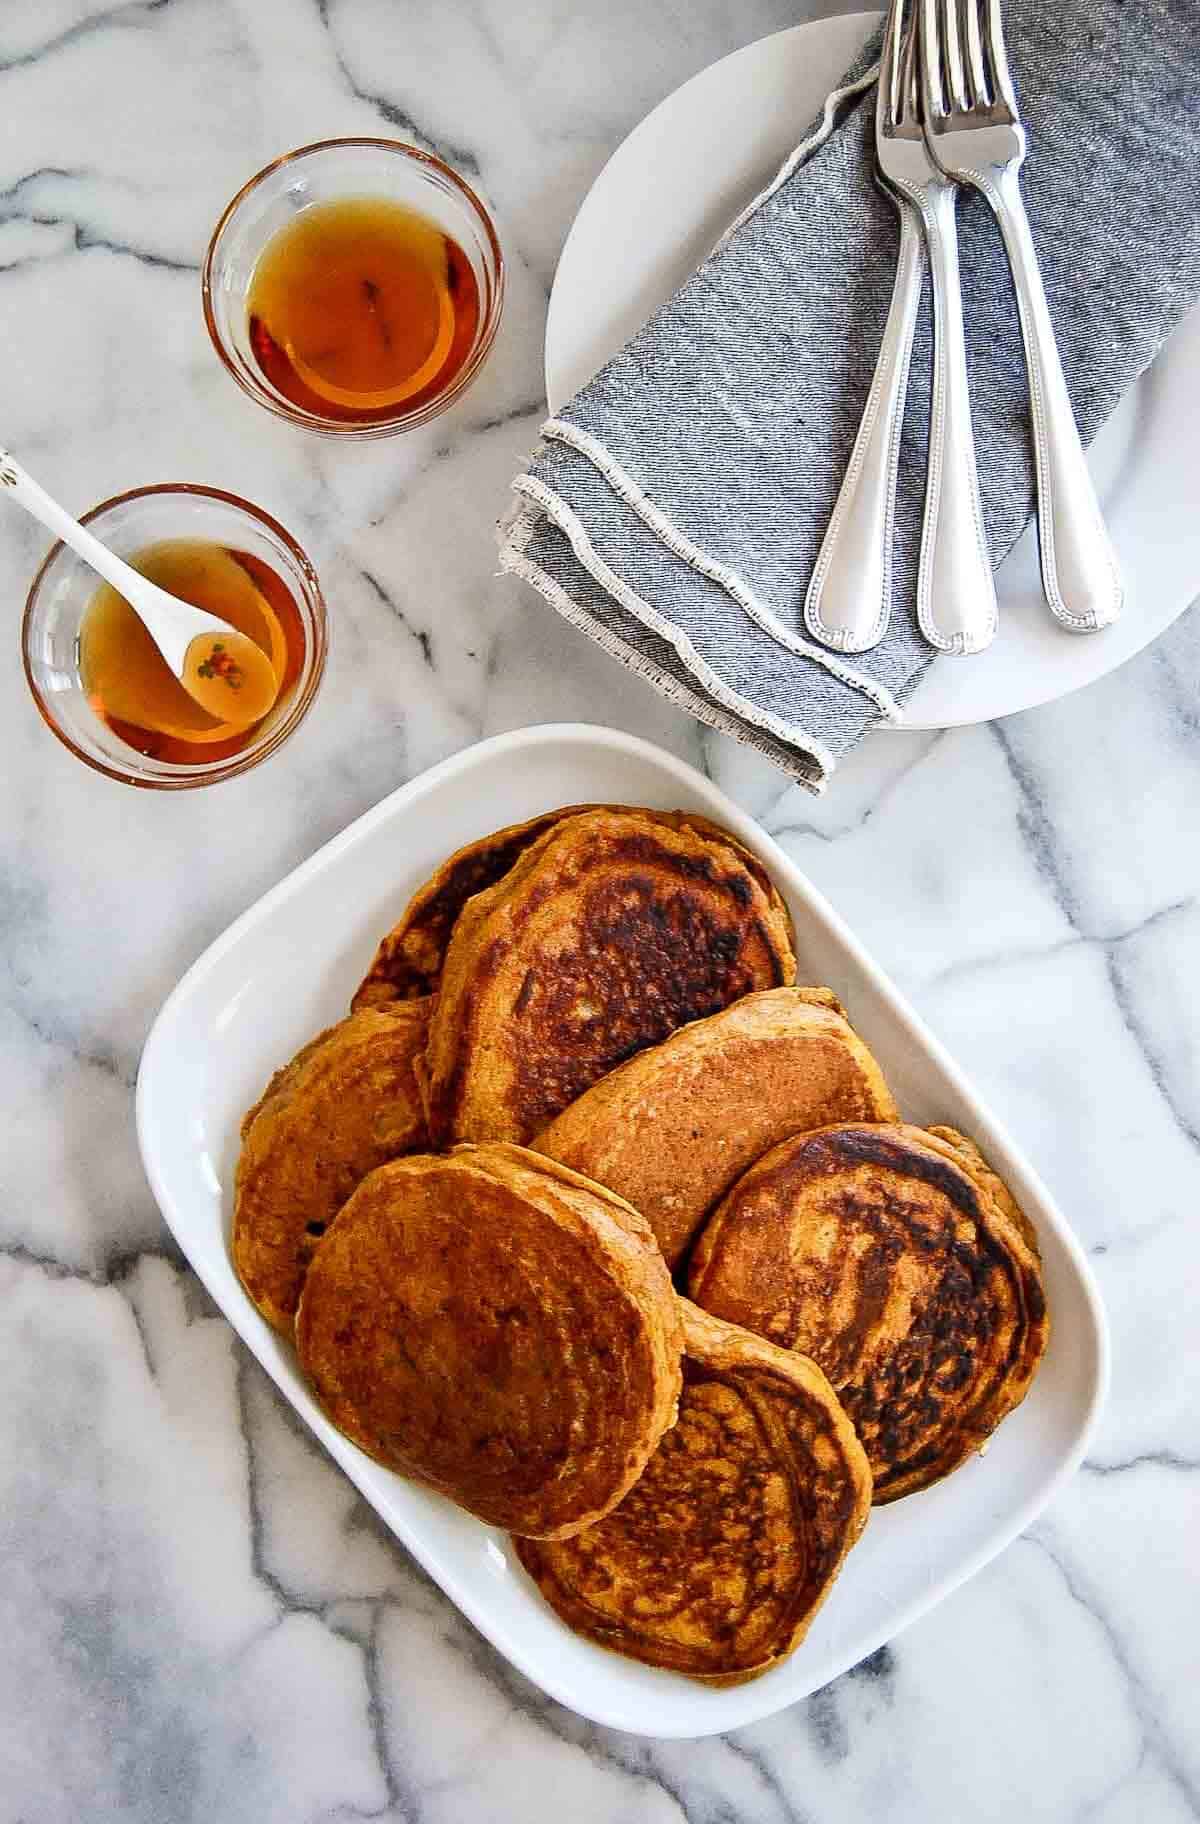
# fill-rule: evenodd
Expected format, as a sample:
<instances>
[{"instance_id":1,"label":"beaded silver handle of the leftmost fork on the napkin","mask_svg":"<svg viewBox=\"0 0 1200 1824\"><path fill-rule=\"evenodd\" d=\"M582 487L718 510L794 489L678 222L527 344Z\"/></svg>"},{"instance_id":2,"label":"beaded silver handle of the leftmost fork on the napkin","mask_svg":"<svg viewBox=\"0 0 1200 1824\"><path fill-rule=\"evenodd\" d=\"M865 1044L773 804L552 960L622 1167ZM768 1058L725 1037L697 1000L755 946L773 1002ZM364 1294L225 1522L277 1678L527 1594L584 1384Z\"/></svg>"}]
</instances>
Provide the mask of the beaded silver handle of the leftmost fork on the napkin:
<instances>
[{"instance_id":1,"label":"beaded silver handle of the leftmost fork on the napkin","mask_svg":"<svg viewBox=\"0 0 1200 1824\"><path fill-rule=\"evenodd\" d=\"M888 192L899 210L899 255L888 321L872 374L863 421L804 596L804 626L822 646L864 653L892 615L895 476L908 392L912 336L921 303L921 219Z\"/></svg>"}]
</instances>

